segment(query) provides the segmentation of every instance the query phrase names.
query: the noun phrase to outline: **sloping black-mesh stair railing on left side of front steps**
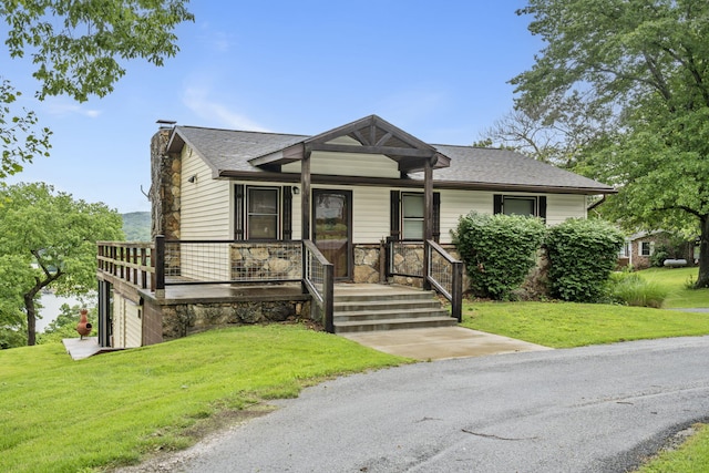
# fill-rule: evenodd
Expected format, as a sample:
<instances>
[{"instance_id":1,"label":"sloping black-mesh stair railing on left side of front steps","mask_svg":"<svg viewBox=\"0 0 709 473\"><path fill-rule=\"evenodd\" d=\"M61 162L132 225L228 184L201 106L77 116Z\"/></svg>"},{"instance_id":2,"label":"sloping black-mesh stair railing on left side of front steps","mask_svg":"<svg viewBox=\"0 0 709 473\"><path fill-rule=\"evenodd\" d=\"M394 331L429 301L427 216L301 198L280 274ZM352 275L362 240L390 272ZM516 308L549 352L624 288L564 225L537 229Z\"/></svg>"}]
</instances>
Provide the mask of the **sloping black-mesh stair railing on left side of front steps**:
<instances>
[{"instance_id":1,"label":"sloping black-mesh stair railing on left side of front steps","mask_svg":"<svg viewBox=\"0 0 709 473\"><path fill-rule=\"evenodd\" d=\"M312 296L312 304L318 306L325 330L335 333L333 266L309 239L302 241L302 286Z\"/></svg>"}]
</instances>

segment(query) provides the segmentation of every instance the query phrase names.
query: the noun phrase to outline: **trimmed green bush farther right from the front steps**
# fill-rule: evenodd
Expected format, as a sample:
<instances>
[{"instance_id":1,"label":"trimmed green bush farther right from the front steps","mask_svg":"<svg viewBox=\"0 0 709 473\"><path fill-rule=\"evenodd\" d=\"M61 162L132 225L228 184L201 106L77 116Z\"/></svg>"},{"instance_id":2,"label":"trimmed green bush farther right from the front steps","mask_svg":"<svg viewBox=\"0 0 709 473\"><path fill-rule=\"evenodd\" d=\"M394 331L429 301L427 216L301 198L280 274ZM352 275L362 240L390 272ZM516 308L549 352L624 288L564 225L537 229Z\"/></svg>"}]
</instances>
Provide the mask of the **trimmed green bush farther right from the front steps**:
<instances>
[{"instance_id":1,"label":"trimmed green bush farther right from the front steps","mask_svg":"<svg viewBox=\"0 0 709 473\"><path fill-rule=\"evenodd\" d=\"M549 228L546 253L553 297L574 302L596 302L616 266L624 236L604 220L568 219Z\"/></svg>"}]
</instances>

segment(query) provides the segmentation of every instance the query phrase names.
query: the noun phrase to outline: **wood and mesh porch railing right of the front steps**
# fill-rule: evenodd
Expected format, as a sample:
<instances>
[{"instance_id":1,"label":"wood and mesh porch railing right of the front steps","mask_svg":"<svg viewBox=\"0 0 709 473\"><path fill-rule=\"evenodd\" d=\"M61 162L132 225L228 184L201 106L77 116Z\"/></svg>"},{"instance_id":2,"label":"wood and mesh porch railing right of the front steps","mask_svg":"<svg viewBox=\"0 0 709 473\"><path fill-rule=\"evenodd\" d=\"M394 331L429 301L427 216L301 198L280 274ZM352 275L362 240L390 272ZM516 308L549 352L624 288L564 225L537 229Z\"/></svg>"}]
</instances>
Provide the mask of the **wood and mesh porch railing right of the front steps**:
<instances>
[{"instance_id":1,"label":"wood and mesh porch railing right of the front steps","mask_svg":"<svg viewBox=\"0 0 709 473\"><path fill-rule=\"evenodd\" d=\"M451 315L460 322L463 311L463 263L433 240L390 239L387 246L387 277L403 276L429 282L451 302Z\"/></svg>"}]
</instances>

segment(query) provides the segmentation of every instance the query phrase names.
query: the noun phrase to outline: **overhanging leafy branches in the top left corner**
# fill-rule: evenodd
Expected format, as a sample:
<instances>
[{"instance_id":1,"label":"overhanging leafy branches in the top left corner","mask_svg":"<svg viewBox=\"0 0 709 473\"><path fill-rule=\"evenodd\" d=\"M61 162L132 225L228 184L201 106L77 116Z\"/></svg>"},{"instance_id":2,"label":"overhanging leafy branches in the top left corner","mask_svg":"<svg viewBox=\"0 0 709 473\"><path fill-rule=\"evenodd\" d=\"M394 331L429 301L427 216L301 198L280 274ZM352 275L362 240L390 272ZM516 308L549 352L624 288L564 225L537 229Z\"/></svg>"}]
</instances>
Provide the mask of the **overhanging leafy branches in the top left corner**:
<instances>
[{"instance_id":1,"label":"overhanging leafy branches in the top left corner","mask_svg":"<svg viewBox=\"0 0 709 473\"><path fill-rule=\"evenodd\" d=\"M66 94L84 102L113 91L125 74L123 61L141 58L163 65L174 56L174 28L194 20L187 1L6 0L0 2L0 19L7 24L10 55L32 58L39 100ZM0 74L0 182L50 148L50 130L37 126L32 111L16 109L21 91L7 76L10 70L3 68Z\"/></svg>"}]
</instances>

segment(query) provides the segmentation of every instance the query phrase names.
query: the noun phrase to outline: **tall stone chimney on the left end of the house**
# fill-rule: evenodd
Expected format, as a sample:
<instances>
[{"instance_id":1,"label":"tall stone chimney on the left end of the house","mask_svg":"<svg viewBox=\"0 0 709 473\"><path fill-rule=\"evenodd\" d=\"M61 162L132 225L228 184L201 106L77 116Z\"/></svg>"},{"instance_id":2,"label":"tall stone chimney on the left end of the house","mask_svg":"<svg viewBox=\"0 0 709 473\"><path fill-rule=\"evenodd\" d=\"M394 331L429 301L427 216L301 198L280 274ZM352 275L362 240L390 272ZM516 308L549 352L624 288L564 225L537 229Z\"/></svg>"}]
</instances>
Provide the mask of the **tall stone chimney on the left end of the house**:
<instances>
[{"instance_id":1,"label":"tall stone chimney on the left end of the house","mask_svg":"<svg viewBox=\"0 0 709 473\"><path fill-rule=\"evenodd\" d=\"M152 236L179 239L182 158L166 152L172 130L161 128L151 141Z\"/></svg>"}]
</instances>

